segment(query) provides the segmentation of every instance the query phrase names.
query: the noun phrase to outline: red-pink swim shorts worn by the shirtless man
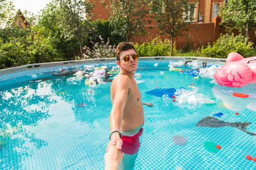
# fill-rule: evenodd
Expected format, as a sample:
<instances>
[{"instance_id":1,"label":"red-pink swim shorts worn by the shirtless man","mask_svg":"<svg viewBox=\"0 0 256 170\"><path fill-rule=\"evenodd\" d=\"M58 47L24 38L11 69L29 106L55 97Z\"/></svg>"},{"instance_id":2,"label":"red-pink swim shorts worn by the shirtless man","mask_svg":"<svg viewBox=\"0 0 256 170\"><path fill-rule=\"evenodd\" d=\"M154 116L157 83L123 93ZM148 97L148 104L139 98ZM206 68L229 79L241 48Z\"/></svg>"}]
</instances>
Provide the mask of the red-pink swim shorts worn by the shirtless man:
<instances>
[{"instance_id":1,"label":"red-pink swim shorts worn by the shirtless man","mask_svg":"<svg viewBox=\"0 0 256 170\"><path fill-rule=\"evenodd\" d=\"M121 137L123 141L122 152L129 155L133 155L134 153L137 153L140 149L140 136L142 132L143 132L143 129L141 127L140 131L137 134L134 134L134 136L122 135Z\"/></svg>"}]
</instances>

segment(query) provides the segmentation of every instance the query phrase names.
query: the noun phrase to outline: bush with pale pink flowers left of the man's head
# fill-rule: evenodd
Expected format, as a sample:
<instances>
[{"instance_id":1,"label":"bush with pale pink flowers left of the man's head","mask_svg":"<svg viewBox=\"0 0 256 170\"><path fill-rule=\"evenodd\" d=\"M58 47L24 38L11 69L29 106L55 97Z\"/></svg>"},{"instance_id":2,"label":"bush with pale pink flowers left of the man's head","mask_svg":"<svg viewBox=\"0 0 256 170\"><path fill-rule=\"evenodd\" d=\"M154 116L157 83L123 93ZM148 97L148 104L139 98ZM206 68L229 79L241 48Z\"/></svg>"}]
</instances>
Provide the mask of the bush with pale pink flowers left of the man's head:
<instances>
[{"instance_id":1,"label":"bush with pale pink flowers left of the man's head","mask_svg":"<svg viewBox=\"0 0 256 170\"><path fill-rule=\"evenodd\" d=\"M104 43L103 38L99 36L100 42L93 44L93 48L84 46L83 59L99 59L99 58L113 58L115 57L115 45L109 45L109 39L107 43Z\"/></svg>"}]
</instances>

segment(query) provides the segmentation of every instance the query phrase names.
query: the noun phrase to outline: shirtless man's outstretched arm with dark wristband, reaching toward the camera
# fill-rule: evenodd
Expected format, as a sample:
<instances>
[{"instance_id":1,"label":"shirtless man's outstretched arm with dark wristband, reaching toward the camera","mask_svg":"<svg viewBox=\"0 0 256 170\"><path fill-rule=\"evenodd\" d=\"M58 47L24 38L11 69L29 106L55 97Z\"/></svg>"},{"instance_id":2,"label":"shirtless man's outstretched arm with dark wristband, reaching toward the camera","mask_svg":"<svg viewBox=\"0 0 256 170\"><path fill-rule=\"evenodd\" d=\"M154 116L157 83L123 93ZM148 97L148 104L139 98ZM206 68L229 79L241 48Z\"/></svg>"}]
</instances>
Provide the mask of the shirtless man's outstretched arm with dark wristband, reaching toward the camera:
<instances>
[{"instance_id":1,"label":"shirtless man's outstretched arm with dark wristband, reaching toward the camera","mask_svg":"<svg viewBox=\"0 0 256 170\"><path fill-rule=\"evenodd\" d=\"M115 82L115 97L113 99L113 107L109 116L109 126L111 132L120 132L125 103L127 99L129 85L131 82L129 79L130 78L128 76L120 76L118 78L118 81ZM122 148L122 139L120 139L120 135L118 132L114 132L113 134L111 134L111 141L109 142L109 146L112 145L116 145L116 148L119 150L121 150Z\"/></svg>"}]
</instances>

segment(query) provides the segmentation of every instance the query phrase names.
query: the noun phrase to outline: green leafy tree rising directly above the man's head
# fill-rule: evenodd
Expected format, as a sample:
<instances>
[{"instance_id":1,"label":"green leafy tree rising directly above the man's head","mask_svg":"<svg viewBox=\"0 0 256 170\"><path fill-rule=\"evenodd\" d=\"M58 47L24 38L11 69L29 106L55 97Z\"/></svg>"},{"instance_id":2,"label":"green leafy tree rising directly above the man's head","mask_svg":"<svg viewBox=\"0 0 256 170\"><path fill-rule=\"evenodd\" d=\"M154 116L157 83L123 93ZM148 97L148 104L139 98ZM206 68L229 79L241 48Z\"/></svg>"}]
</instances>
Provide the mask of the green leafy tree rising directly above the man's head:
<instances>
[{"instance_id":1,"label":"green leafy tree rising directly above the man's head","mask_svg":"<svg viewBox=\"0 0 256 170\"><path fill-rule=\"evenodd\" d=\"M110 0L107 4L102 1L108 9L109 20L115 27L113 34L126 36L126 41L131 41L132 35L143 35L146 33L143 27L147 24L148 0Z\"/></svg>"}]
</instances>

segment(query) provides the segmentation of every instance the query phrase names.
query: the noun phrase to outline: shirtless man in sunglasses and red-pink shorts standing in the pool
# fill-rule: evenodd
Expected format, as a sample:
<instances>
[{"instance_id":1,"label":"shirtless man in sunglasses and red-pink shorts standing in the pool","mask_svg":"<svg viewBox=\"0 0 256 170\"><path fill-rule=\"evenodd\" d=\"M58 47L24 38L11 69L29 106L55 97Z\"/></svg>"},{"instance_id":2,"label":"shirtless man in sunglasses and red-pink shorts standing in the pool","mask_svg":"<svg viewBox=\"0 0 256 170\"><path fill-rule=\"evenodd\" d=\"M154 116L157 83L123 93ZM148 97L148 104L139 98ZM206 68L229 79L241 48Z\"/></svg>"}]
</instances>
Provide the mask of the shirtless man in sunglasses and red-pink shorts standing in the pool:
<instances>
[{"instance_id":1,"label":"shirtless man in sunglasses and red-pink shorts standing in the pool","mask_svg":"<svg viewBox=\"0 0 256 170\"><path fill-rule=\"evenodd\" d=\"M112 81L110 89L113 107L109 117L111 134L107 152L111 146L122 150L125 154L120 169L132 169L140 148L139 138L143 131L142 104L153 105L141 103L140 90L134 80L138 67L138 54L134 46L131 43L120 43L115 53L120 73Z\"/></svg>"}]
</instances>

